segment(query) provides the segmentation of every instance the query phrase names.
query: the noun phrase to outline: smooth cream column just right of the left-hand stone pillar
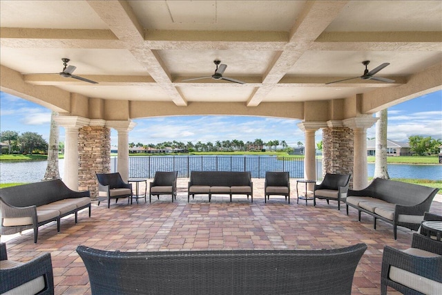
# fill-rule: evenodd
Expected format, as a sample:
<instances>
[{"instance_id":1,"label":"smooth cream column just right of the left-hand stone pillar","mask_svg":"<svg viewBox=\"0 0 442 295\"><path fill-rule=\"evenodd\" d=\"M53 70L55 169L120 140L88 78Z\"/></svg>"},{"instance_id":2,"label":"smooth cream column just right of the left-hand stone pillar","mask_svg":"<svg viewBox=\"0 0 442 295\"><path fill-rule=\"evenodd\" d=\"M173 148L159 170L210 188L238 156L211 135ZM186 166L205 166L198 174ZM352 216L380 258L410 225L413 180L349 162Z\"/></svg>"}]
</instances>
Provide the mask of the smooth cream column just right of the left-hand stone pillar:
<instances>
[{"instance_id":1,"label":"smooth cream column just right of the left-hand stone pillar","mask_svg":"<svg viewBox=\"0 0 442 295\"><path fill-rule=\"evenodd\" d=\"M125 182L129 179L129 131L135 125L133 121L106 122L107 127L111 127L118 132L117 171L122 175Z\"/></svg>"}]
</instances>

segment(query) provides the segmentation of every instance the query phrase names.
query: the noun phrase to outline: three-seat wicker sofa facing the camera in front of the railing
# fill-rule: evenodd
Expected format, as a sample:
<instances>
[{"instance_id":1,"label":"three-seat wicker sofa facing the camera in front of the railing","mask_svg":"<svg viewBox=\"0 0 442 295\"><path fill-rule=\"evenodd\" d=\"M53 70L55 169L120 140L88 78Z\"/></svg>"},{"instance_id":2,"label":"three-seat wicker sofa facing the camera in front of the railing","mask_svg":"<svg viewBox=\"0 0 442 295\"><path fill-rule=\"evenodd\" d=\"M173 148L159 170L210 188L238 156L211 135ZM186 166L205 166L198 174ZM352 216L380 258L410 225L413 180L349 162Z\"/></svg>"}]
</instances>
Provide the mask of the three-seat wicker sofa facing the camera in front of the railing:
<instances>
[{"instance_id":1,"label":"three-seat wicker sofa facing the camera in front of the railing","mask_svg":"<svg viewBox=\"0 0 442 295\"><path fill-rule=\"evenodd\" d=\"M187 187L187 202L190 196L195 198L197 194L209 195L209 202L212 194L228 194L230 202L232 195L251 196L253 202L253 182L251 174L237 171L191 171L191 178Z\"/></svg>"}]
</instances>

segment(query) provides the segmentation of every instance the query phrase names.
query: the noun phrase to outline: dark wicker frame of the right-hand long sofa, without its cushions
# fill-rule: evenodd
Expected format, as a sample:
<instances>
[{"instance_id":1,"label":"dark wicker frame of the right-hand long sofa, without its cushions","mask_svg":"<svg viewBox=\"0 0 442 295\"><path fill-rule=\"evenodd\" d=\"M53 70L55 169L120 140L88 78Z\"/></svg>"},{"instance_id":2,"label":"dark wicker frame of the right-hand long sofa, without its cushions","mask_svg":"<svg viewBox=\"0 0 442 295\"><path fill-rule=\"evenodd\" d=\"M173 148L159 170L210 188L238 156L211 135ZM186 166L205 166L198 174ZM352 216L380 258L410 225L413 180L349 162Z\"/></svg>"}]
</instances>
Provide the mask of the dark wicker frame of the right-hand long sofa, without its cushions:
<instances>
[{"instance_id":1,"label":"dark wicker frame of the right-hand long sofa, without its cushions","mask_svg":"<svg viewBox=\"0 0 442 295\"><path fill-rule=\"evenodd\" d=\"M347 215L348 207L354 207L358 209L358 220L361 221L361 212L367 213L374 217L373 227L376 229L376 220L381 219L393 225L394 240L397 238L397 227L407 227L414 231L419 229L421 223L411 222L399 222L399 215L404 216L423 216L424 213L430 210L431 203L434 196L436 196L439 189L433 189L431 187L424 187L418 184L410 184L406 182L399 182L394 180L385 180L381 178L374 178L372 183L365 189L354 191L348 190L347 198L350 196L372 197L396 204L394 209L394 220L383 218L376 213L365 210L361 207L357 207L354 204L347 202Z\"/></svg>"}]
</instances>

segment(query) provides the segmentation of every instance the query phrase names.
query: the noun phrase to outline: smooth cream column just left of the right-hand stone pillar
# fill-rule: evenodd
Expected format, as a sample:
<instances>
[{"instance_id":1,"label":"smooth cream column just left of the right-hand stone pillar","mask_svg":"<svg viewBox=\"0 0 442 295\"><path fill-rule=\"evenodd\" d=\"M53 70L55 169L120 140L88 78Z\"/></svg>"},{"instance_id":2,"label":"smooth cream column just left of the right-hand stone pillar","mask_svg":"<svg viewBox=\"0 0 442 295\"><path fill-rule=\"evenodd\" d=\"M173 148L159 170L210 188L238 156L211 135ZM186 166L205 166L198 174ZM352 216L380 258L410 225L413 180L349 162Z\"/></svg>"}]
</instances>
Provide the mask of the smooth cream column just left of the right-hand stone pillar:
<instances>
[{"instance_id":1,"label":"smooth cream column just left of the right-hand stone pillar","mask_svg":"<svg viewBox=\"0 0 442 295\"><path fill-rule=\"evenodd\" d=\"M316 144L315 133L320 127L327 126L325 122L301 122L298 127L304 131L304 178L316 180ZM313 189L313 184L309 184L309 190Z\"/></svg>"}]
</instances>

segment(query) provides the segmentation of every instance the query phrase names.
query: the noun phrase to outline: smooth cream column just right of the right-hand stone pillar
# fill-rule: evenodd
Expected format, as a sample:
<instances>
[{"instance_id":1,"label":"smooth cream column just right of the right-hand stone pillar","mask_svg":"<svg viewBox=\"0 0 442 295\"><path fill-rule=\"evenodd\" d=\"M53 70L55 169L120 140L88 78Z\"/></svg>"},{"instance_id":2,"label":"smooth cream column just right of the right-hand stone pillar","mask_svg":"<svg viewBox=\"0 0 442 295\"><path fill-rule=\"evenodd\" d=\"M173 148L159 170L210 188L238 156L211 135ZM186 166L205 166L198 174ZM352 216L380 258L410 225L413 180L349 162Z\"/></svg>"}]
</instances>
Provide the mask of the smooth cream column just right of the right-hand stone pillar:
<instances>
[{"instance_id":1,"label":"smooth cream column just right of the right-hand stone pillar","mask_svg":"<svg viewBox=\"0 0 442 295\"><path fill-rule=\"evenodd\" d=\"M354 132L353 189L356 190L368 186L367 128L377 120L376 117L354 117L343 121Z\"/></svg>"}]
</instances>

